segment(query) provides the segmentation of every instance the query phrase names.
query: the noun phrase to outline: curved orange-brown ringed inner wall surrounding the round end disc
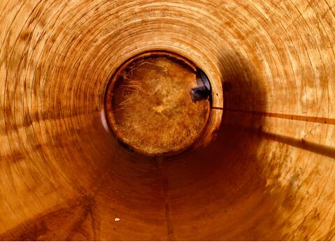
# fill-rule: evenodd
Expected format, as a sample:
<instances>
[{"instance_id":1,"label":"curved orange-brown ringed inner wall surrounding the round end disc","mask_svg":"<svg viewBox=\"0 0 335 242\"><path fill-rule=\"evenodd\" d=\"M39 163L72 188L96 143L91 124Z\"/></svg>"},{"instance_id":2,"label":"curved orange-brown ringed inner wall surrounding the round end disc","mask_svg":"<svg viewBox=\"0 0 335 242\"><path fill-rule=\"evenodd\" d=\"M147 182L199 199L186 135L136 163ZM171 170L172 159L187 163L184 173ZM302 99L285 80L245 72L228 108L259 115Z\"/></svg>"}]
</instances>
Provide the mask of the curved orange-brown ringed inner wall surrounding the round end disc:
<instances>
[{"instance_id":1,"label":"curved orange-brown ringed inner wall surrounding the round end disc","mask_svg":"<svg viewBox=\"0 0 335 242\"><path fill-rule=\"evenodd\" d=\"M0 1L0 238L334 240L334 4ZM107 84L147 50L209 76L205 149L107 133Z\"/></svg>"}]
</instances>

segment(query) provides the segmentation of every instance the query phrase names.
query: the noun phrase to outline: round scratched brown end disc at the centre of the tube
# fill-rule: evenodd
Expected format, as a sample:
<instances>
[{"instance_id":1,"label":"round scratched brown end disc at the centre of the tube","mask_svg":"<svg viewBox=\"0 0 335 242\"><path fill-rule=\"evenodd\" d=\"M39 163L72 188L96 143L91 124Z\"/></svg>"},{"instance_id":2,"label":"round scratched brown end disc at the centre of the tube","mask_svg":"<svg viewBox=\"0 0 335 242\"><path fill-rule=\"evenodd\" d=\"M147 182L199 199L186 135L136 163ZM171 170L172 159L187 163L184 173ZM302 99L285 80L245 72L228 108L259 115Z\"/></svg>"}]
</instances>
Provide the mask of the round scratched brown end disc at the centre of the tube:
<instances>
[{"instance_id":1,"label":"round scratched brown end disc at the centre of the tube","mask_svg":"<svg viewBox=\"0 0 335 242\"><path fill-rule=\"evenodd\" d=\"M180 153L207 125L210 95L201 98L204 89L198 68L188 59L171 52L145 52L113 75L106 93L107 120L131 150L147 156Z\"/></svg>"}]
</instances>

